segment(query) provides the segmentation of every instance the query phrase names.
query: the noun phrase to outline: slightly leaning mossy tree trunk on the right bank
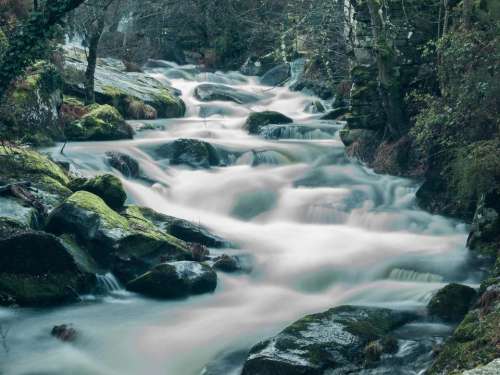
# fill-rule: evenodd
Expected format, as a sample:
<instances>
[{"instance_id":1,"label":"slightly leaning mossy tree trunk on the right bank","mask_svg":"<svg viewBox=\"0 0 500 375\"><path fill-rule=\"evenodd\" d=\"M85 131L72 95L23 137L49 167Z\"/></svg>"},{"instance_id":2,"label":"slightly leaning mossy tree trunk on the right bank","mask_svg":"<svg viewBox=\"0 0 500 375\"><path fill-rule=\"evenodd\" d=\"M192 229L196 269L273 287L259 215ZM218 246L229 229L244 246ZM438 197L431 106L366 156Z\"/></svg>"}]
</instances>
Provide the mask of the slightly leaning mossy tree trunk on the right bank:
<instances>
[{"instance_id":1,"label":"slightly leaning mossy tree trunk on the right bank","mask_svg":"<svg viewBox=\"0 0 500 375\"><path fill-rule=\"evenodd\" d=\"M403 99L401 82L394 74L395 51L388 43L383 15L375 0L367 0L372 24L375 46L378 80L382 104L387 117L387 130L391 139L397 139L408 128L408 116Z\"/></svg>"}]
</instances>

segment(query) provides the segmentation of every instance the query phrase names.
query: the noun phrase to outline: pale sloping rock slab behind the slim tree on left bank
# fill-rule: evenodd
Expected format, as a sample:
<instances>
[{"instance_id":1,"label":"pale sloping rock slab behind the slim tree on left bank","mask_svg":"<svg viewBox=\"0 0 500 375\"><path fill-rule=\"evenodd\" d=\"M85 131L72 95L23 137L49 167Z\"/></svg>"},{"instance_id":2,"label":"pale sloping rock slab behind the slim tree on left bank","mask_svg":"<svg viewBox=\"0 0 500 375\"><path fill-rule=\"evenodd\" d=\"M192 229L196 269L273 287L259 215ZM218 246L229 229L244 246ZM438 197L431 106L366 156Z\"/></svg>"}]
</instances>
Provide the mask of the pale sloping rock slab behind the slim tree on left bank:
<instances>
[{"instance_id":1,"label":"pale sloping rock slab behind the slim tree on left bank","mask_svg":"<svg viewBox=\"0 0 500 375\"><path fill-rule=\"evenodd\" d=\"M65 52L65 90L72 95L84 97L83 75L87 66L85 55L80 50ZM98 59L95 73L98 103L113 105L122 116L132 115L136 119L152 117L151 108L145 105L152 107L160 118L184 116L186 106L172 87L144 73L125 72L122 65L115 59Z\"/></svg>"}]
</instances>

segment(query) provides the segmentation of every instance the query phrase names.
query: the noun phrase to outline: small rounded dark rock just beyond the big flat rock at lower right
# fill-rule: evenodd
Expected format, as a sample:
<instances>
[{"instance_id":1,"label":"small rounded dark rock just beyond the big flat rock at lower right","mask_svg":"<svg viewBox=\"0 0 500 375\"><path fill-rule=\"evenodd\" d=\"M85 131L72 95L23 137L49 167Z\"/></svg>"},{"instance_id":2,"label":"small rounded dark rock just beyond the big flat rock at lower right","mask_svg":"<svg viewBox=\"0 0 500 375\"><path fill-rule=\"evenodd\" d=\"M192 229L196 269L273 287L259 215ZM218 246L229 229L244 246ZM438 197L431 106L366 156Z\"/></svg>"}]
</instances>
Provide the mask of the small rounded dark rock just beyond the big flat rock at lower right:
<instances>
[{"instance_id":1,"label":"small rounded dark rock just beyond the big flat rock at lower right","mask_svg":"<svg viewBox=\"0 0 500 375\"><path fill-rule=\"evenodd\" d=\"M440 289L427 305L429 315L445 322L458 322L476 298L476 291L460 284L448 284Z\"/></svg>"}]
</instances>

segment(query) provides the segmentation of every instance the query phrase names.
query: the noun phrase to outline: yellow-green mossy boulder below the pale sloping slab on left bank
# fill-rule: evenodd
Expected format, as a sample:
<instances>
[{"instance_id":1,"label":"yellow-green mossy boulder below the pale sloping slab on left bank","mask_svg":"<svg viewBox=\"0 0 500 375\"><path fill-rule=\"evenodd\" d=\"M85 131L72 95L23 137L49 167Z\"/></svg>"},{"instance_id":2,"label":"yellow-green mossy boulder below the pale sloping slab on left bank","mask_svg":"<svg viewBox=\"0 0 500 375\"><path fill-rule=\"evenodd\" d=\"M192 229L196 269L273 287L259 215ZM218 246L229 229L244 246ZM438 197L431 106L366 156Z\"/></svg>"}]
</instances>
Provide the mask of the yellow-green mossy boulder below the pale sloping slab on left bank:
<instances>
[{"instance_id":1,"label":"yellow-green mossy boulder below the pale sloping slab on left bank","mask_svg":"<svg viewBox=\"0 0 500 375\"><path fill-rule=\"evenodd\" d=\"M71 141L109 141L132 139L134 131L120 113L110 105L93 105L79 120L66 126Z\"/></svg>"}]
</instances>

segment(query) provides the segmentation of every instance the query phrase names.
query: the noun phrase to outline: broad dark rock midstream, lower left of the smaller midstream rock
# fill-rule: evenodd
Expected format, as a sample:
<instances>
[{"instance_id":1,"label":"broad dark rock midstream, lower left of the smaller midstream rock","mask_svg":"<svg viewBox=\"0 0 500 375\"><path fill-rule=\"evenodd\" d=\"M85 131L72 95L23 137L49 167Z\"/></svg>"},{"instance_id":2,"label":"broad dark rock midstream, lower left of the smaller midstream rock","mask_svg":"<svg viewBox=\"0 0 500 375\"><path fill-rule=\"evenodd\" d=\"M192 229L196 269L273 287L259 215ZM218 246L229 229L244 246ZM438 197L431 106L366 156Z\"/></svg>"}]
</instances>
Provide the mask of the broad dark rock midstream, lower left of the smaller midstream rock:
<instances>
[{"instance_id":1,"label":"broad dark rock midstream, lower left of the smaller midstream rock","mask_svg":"<svg viewBox=\"0 0 500 375\"><path fill-rule=\"evenodd\" d=\"M210 143L197 139L177 139L158 148L156 154L170 159L172 165L210 168L221 164L217 149Z\"/></svg>"}]
</instances>

